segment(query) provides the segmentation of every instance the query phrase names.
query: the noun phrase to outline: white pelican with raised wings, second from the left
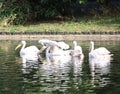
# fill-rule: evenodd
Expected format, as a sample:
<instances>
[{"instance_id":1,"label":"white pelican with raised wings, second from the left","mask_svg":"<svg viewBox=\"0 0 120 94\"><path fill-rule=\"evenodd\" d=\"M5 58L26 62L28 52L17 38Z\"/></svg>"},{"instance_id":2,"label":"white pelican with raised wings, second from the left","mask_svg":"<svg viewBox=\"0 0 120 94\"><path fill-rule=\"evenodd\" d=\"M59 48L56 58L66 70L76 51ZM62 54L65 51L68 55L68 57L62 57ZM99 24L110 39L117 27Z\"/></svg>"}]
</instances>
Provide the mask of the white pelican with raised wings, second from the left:
<instances>
[{"instance_id":1,"label":"white pelican with raised wings, second from the left","mask_svg":"<svg viewBox=\"0 0 120 94\"><path fill-rule=\"evenodd\" d=\"M43 39L39 40L39 43L43 45L41 51L46 48L46 58L50 58L52 61L60 60L63 57L67 58L70 56L71 51L66 50L69 48L69 45L65 42Z\"/></svg>"}]
</instances>

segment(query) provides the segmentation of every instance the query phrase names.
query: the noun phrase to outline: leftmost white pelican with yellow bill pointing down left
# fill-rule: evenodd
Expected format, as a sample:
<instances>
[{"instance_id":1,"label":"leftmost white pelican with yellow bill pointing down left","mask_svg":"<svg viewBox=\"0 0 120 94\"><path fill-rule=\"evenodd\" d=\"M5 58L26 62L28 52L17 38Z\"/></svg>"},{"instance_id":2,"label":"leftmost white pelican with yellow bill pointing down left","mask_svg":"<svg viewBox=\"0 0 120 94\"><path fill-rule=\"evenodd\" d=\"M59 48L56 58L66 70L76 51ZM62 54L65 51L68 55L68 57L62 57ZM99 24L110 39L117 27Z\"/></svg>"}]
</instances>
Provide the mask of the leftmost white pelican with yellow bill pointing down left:
<instances>
[{"instance_id":1,"label":"leftmost white pelican with yellow bill pointing down left","mask_svg":"<svg viewBox=\"0 0 120 94\"><path fill-rule=\"evenodd\" d=\"M38 61L40 59L39 49L36 46L26 47L26 41L21 41L20 44L15 48L18 49L22 46L20 50L20 57L22 58L23 66L26 66L27 61Z\"/></svg>"}]
</instances>

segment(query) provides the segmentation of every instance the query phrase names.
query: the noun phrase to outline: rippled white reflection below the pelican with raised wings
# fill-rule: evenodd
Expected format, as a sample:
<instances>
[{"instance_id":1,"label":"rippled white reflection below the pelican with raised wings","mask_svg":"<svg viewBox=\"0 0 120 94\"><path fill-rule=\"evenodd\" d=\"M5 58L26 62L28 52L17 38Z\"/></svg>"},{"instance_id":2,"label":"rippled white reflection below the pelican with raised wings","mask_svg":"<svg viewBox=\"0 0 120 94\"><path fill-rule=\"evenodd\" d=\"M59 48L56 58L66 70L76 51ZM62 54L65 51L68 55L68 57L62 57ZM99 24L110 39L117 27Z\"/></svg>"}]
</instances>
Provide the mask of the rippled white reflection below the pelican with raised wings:
<instances>
[{"instance_id":1,"label":"rippled white reflection below the pelican with raised wings","mask_svg":"<svg viewBox=\"0 0 120 94\"><path fill-rule=\"evenodd\" d=\"M42 84L41 91L54 91L54 90L64 90L69 86L67 82L69 81L68 75L70 71L70 61L68 62L49 62L41 66L40 75L41 79L44 79ZM46 83L46 84L45 84Z\"/></svg>"}]
</instances>

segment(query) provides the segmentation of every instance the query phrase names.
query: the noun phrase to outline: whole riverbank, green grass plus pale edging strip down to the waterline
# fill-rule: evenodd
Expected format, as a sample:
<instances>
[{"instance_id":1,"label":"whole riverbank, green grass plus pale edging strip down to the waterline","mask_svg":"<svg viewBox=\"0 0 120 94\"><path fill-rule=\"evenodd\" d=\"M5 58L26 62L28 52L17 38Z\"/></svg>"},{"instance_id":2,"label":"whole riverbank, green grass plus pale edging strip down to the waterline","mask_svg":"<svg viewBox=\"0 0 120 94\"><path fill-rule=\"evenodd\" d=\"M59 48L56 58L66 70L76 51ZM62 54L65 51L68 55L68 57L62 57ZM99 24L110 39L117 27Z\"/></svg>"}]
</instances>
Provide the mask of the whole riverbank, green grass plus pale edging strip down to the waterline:
<instances>
[{"instance_id":1,"label":"whole riverbank, green grass plus pale edging strip down to the waterline","mask_svg":"<svg viewBox=\"0 0 120 94\"><path fill-rule=\"evenodd\" d=\"M0 25L0 40L120 40L120 16Z\"/></svg>"}]
</instances>

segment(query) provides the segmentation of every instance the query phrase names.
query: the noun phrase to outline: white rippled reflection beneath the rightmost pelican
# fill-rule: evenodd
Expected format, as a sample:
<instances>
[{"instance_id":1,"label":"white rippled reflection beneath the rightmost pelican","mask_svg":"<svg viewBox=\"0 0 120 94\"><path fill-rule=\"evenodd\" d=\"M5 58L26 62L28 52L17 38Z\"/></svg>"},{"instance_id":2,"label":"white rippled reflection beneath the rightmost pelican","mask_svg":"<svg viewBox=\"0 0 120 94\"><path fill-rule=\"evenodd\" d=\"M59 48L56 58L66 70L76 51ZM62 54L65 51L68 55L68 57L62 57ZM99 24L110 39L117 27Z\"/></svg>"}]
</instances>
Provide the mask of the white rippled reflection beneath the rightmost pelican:
<instances>
[{"instance_id":1,"label":"white rippled reflection beneath the rightmost pelican","mask_svg":"<svg viewBox=\"0 0 120 94\"><path fill-rule=\"evenodd\" d=\"M91 83L94 87L104 87L110 83L110 58L93 58L89 60L90 72L91 72Z\"/></svg>"}]
</instances>

